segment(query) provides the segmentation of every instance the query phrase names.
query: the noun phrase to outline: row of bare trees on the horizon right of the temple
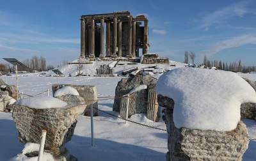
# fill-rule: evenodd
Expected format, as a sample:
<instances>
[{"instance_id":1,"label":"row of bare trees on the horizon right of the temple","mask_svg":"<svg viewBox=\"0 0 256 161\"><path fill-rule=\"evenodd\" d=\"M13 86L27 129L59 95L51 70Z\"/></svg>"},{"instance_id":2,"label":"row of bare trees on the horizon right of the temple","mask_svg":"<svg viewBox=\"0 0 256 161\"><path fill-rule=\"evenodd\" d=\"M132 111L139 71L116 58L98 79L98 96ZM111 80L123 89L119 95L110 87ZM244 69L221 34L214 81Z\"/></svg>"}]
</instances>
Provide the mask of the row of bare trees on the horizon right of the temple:
<instances>
[{"instance_id":1,"label":"row of bare trees on the horizon right of the temple","mask_svg":"<svg viewBox=\"0 0 256 161\"><path fill-rule=\"evenodd\" d=\"M194 64L195 61L195 52L188 52L185 51L184 54L184 63L188 64L189 59L190 62ZM239 61L233 61L233 62L224 62L224 61L216 61L216 60L210 60L206 55L204 56L203 63L199 66L204 66L205 68L216 68L218 70L225 70L225 71L231 71L231 72L256 72L256 66L245 66L242 65L241 60Z\"/></svg>"}]
</instances>

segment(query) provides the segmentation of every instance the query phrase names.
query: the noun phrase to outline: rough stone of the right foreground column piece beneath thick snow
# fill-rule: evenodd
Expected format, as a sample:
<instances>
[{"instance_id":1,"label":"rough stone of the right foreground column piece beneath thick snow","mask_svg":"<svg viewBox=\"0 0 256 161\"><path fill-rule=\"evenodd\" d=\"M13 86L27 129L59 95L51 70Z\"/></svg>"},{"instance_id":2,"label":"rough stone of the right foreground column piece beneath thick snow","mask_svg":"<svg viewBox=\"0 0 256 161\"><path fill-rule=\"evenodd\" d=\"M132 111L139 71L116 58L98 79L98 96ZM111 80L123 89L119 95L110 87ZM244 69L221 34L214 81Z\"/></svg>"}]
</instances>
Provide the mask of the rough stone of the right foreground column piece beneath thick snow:
<instances>
[{"instance_id":1,"label":"rough stone of the right foreground column piece beneath thick snow","mask_svg":"<svg viewBox=\"0 0 256 161\"><path fill-rule=\"evenodd\" d=\"M166 107L168 152L166 160L242 160L248 148L249 136L246 126L239 121L230 132L176 128L173 123L173 100L158 99ZM160 103L161 102L161 103Z\"/></svg>"}]
</instances>

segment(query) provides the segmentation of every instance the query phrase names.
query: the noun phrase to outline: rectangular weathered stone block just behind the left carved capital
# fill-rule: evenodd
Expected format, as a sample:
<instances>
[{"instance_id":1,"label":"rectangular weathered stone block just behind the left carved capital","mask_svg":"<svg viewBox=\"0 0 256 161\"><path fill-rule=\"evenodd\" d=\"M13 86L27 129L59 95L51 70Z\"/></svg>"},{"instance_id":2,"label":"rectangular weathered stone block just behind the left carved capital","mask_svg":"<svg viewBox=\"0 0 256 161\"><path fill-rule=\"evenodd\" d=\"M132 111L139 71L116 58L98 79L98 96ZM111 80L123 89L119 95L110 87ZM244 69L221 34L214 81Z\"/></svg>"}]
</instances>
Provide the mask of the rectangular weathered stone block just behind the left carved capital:
<instances>
[{"instance_id":1,"label":"rectangular weathered stone block just behind the left carved capital","mask_svg":"<svg viewBox=\"0 0 256 161\"><path fill-rule=\"evenodd\" d=\"M98 98L97 98L97 89L95 86L91 85L74 85L74 84L53 84L52 85L52 93L63 86L70 86L72 88L75 88L79 96L84 98L86 109L84 111L85 116L90 116L90 110L93 105L93 116L97 116L98 114Z\"/></svg>"}]
</instances>

